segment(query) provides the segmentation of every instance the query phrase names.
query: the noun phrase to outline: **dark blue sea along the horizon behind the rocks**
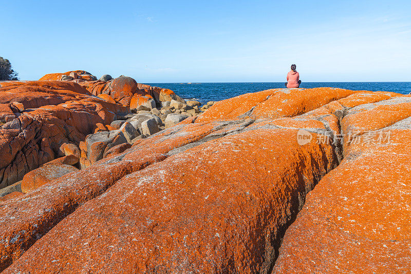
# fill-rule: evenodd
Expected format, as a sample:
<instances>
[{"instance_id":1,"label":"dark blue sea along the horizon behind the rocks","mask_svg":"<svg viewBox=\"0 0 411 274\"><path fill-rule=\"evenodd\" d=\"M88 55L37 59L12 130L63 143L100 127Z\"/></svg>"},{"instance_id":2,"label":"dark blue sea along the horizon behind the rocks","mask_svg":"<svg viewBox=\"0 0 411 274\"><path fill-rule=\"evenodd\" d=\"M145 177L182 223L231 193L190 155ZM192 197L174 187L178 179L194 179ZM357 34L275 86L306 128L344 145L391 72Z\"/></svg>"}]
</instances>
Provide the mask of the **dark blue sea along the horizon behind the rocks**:
<instances>
[{"instance_id":1,"label":"dark blue sea along the horizon behind the rocks","mask_svg":"<svg viewBox=\"0 0 411 274\"><path fill-rule=\"evenodd\" d=\"M155 87L173 90L183 99L193 99L201 103L220 101L240 94L266 90L270 88L285 88L283 82L273 83L148 83ZM351 90L392 91L402 94L411 92L411 82L307 82L301 88L334 87Z\"/></svg>"}]
</instances>

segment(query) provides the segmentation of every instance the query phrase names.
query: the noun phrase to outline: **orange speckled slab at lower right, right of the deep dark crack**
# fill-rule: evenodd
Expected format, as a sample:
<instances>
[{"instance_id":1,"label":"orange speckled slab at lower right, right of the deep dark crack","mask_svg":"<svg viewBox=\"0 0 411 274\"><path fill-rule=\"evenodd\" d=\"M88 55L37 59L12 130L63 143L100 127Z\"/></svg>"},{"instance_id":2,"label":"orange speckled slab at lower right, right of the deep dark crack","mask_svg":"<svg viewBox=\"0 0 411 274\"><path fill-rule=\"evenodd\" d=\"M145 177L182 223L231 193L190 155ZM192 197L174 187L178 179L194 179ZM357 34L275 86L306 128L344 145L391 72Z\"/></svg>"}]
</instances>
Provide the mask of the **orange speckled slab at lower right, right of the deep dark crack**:
<instances>
[{"instance_id":1,"label":"orange speckled slab at lower right, right of the deep dark crack","mask_svg":"<svg viewBox=\"0 0 411 274\"><path fill-rule=\"evenodd\" d=\"M386 118L373 114L362 118ZM346 158L307 195L286 231L274 273L409 271L411 121L396 120L346 142Z\"/></svg>"}]
</instances>

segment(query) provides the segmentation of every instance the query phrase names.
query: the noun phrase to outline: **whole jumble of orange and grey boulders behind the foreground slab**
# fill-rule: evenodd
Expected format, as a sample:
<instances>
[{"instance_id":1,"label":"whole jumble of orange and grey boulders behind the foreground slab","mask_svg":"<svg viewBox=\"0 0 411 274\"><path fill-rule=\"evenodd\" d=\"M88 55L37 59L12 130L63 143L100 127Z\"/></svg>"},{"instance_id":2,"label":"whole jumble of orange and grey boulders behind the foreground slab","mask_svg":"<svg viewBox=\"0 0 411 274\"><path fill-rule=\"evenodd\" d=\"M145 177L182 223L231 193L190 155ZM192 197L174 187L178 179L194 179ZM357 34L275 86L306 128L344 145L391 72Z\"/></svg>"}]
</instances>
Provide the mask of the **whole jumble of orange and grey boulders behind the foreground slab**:
<instances>
[{"instance_id":1,"label":"whole jumble of orange and grey boulders behind the foreground slab","mask_svg":"<svg viewBox=\"0 0 411 274\"><path fill-rule=\"evenodd\" d=\"M85 168L120 147L126 149L126 143L134 144L201 112L198 102L191 102L194 108L188 106L171 90L162 92L124 76L96 78L78 70L47 74L41 81L0 84L0 189L10 186L0 197L13 191L26 193L48 182L37 176L24 179L49 168L43 165ZM103 87L101 92L97 85ZM156 92L158 100L150 95ZM163 93L168 95L161 98L170 101L159 101ZM121 104L137 98L135 108ZM170 106L176 100L180 108ZM167 119L169 114L176 117Z\"/></svg>"}]
</instances>

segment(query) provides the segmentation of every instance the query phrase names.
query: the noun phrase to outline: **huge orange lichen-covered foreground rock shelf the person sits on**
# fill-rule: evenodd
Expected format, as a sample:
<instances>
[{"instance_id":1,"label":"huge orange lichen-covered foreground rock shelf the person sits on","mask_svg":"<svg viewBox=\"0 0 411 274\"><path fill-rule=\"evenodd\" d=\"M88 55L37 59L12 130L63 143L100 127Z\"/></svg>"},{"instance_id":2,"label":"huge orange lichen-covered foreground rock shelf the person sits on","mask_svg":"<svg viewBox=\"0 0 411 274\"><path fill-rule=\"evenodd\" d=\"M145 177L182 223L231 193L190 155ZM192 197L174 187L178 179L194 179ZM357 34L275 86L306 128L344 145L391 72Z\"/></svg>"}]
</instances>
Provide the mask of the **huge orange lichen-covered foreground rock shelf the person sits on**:
<instances>
[{"instance_id":1,"label":"huge orange lichen-covered foreground rock shelf the person sits on","mask_svg":"<svg viewBox=\"0 0 411 274\"><path fill-rule=\"evenodd\" d=\"M337 88L270 89L217 102L109 148L85 169L7 195L0 269L405 272L410 115L409 95ZM90 159L86 143L81 154Z\"/></svg>"}]
</instances>

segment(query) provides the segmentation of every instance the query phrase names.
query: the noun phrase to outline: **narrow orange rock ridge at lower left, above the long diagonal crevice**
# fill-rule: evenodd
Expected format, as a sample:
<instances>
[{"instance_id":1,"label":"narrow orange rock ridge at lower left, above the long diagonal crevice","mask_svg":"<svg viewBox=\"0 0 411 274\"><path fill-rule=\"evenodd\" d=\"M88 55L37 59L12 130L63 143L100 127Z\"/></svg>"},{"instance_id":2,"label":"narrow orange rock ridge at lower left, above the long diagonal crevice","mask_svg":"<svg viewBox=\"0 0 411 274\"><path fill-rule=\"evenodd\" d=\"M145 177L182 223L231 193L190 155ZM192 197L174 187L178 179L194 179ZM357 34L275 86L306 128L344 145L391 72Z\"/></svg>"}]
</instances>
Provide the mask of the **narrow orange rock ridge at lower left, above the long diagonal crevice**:
<instances>
[{"instance_id":1,"label":"narrow orange rock ridge at lower left, above the long diagonal crevice","mask_svg":"<svg viewBox=\"0 0 411 274\"><path fill-rule=\"evenodd\" d=\"M79 205L102 194L126 174L165 157L163 154L129 155L125 162L111 161L106 166L96 165L66 174L34 189L25 199L4 203L0 211L0 241L7 244L0 245L0 271Z\"/></svg>"}]
</instances>

